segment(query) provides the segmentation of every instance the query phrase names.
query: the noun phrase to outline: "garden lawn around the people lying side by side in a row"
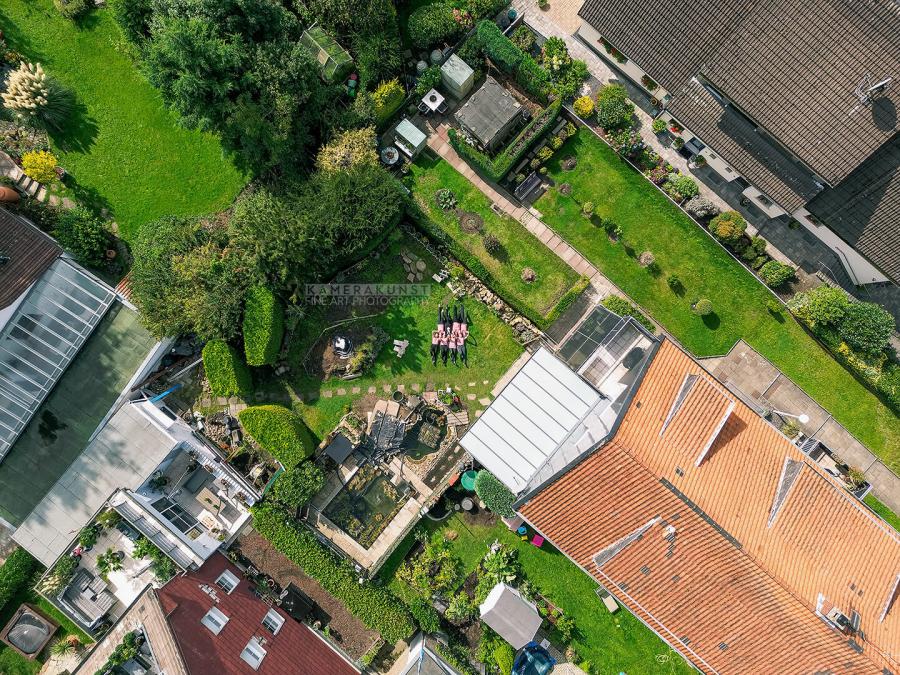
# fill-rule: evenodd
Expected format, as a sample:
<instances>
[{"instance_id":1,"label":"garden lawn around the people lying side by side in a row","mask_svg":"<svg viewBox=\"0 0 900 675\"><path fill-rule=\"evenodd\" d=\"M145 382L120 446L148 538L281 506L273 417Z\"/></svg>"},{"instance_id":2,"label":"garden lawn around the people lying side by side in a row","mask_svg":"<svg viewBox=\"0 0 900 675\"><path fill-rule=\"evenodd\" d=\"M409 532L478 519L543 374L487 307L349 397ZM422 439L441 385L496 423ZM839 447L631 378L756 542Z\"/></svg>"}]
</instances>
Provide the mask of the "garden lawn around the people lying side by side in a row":
<instances>
[{"instance_id":1,"label":"garden lawn around the people lying side by side in a row","mask_svg":"<svg viewBox=\"0 0 900 675\"><path fill-rule=\"evenodd\" d=\"M316 392L319 398L299 406L298 411L319 437L331 431L354 401L366 395L368 388L373 386L379 397L388 397L390 391L399 384L405 385L410 393L413 392L413 384L423 388L428 384L441 388L450 385L460 390L461 397L471 412L476 406L481 407L477 399L490 394L497 380L522 353L522 347L513 339L510 328L485 305L469 298L464 303L470 319L469 367L454 366L450 361L444 366L440 360L433 366L429 348L438 305L447 304L453 297L446 286L432 282L431 275L437 270L437 266L427 251L411 237L397 233L384 252L356 270L348 281L377 281L382 284L404 282L405 271L400 264L399 255L402 249L426 261L428 269L425 280L431 284L430 295L421 302L403 302L389 306L381 313L361 319L361 323L381 326L392 340L409 340L409 347L403 358L398 358L391 349L391 344L388 344L372 370L359 379L349 382L330 379L322 382L314 375L306 375L302 366L303 357L322 329L332 325L337 318L332 312L313 309L302 322L302 334L292 344L294 377L271 380L262 385L268 389L286 389L288 393L299 394L304 398L309 393ZM469 383L474 383L474 386L470 387ZM388 392L383 389L385 385L389 387ZM356 394L353 393L354 387L360 389ZM338 389L343 389L344 393L339 394ZM331 392L331 396L326 396L325 392ZM469 394L474 395L476 400L467 399Z\"/></svg>"}]
</instances>

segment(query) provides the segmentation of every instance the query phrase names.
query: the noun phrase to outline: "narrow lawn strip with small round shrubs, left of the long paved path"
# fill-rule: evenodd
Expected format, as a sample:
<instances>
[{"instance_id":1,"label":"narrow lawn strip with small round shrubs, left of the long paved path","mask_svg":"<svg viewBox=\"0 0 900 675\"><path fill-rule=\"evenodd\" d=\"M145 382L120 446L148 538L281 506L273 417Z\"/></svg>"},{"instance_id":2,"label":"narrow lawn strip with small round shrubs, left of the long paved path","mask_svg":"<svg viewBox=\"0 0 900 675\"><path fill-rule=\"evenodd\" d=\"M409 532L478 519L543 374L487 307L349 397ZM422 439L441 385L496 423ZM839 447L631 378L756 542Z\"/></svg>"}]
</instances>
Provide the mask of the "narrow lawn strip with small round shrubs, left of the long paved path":
<instances>
[{"instance_id":1,"label":"narrow lawn strip with small round shrubs, left of the long paved path","mask_svg":"<svg viewBox=\"0 0 900 675\"><path fill-rule=\"evenodd\" d=\"M498 216L487 197L465 176L442 159L422 157L412 165L411 189L422 210L441 229L474 255L502 288L494 290L546 317L560 297L578 281L578 274L544 246L517 220ZM460 227L453 210L444 211L435 199L440 188L449 188L457 199L457 208L476 213L484 220L482 233L468 233ZM491 256L484 248L484 233L496 236L503 254ZM531 267L537 278L522 281L522 270Z\"/></svg>"}]
</instances>

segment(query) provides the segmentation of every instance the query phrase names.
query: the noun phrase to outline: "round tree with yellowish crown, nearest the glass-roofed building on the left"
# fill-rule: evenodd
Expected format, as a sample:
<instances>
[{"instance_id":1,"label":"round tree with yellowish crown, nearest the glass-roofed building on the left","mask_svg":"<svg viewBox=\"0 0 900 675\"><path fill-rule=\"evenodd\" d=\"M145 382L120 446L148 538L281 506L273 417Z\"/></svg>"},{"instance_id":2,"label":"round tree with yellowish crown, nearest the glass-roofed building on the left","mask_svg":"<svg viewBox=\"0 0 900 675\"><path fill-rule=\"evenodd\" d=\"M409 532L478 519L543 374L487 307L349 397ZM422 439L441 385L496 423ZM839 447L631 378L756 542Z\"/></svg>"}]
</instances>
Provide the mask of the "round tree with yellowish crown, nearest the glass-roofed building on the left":
<instances>
[{"instance_id":1,"label":"round tree with yellowish crown, nearest the glass-roofed building on the left","mask_svg":"<svg viewBox=\"0 0 900 675\"><path fill-rule=\"evenodd\" d=\"M167 217L141 229L132 298L154 335L236 335L251 267L226 235L222 225L196 218Z\"/></svg>"}]
</instances>

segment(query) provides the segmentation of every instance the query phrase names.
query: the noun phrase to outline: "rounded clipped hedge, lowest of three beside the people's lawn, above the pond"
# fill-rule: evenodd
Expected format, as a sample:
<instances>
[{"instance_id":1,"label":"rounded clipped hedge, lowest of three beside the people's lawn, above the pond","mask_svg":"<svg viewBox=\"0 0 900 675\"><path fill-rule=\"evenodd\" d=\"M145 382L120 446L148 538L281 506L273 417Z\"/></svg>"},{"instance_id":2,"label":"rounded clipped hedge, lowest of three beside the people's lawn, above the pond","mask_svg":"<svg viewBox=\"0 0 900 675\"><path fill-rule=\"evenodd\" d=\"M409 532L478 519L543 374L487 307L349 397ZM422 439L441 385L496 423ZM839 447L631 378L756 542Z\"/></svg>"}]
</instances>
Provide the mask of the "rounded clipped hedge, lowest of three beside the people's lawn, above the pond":
<instances>
[{"instance_id":1,"label":"rounded clipped hedge, lowest of three beside the people's lawn, above the pond","mask_svg":"<svg viewBox=\"0 0 900 675\"><path fill-rule=\"evenodd\" d=\"M293 469L316 449L300 416L280 405L258 405L238 413L244 430L286 469Z\"/></svg>"}]
</instances>

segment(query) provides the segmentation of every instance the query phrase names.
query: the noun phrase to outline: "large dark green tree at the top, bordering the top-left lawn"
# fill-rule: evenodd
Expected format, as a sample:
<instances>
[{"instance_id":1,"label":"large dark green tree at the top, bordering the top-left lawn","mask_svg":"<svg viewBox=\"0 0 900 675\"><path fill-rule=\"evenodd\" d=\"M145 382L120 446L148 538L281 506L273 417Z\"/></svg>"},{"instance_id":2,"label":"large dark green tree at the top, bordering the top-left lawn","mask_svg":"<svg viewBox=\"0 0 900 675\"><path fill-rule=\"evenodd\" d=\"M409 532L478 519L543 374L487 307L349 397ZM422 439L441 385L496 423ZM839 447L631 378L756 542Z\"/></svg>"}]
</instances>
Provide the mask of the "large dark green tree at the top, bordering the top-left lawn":
<instances>
[{"instance_id":1,"label":"large dark green tree at the top, bordering the top-left lawn","mask_svg":"<svg viewBox=\"0 0 900 675\"><path fill-rule=\"evenodd\" d=\"M276 0L157 0L144 61L166 104L255 174L293 173L331 98Z\"/></svg>"}]
</instances>

